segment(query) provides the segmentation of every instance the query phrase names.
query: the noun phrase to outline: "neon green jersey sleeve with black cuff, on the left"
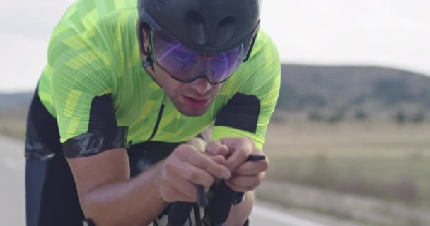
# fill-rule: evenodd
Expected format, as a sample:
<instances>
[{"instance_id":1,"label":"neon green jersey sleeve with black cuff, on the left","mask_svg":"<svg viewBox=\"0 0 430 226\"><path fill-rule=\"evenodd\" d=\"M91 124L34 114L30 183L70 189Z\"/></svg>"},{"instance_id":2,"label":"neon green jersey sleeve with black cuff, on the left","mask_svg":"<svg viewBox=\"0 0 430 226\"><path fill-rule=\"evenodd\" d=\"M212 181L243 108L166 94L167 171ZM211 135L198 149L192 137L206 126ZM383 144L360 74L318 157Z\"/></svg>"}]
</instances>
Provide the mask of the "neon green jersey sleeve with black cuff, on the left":
<instances>
[{"instance_id":1,"label":"neon green jersey sleeve with black cuff, on the left","mask_svg":"<svg viewBox=\"0 0 430 226\"><path fill-rule=\"evenodd\" d=\"M112 102L112 71L86 32L59 24L48 64L56 117L66 157L85 157L125 146L127 128L118 127Z\"/></svg>"}]
</instances>

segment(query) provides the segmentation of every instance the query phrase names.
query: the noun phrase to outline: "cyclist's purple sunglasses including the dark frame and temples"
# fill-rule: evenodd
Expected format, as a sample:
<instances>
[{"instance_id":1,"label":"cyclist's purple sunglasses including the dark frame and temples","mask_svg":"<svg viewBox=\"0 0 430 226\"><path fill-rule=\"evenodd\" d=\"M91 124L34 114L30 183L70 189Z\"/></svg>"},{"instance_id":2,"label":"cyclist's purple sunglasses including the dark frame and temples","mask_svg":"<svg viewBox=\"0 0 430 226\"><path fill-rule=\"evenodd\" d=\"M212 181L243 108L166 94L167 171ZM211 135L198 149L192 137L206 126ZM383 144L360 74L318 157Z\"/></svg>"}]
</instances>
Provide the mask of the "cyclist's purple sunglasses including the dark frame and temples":
<instances>
[{"instance_id":1,"label":"cyclist's purple sunglasses including the dark frame and temples","mask_svg":"<svg viewBox=\"0 0 430 226\"><path fill-rule=\"evenodd\" d=\"M176 40L146 11L141 11L140 20L139 32L143 21L151 27L149 34L151 59L172 78L182 83L191 83L199 78L206 79L212 85L226 81L244 61L248 60L250 49L260 28L258 23L255 30L232 49L204 54Z\"/></svg>"}]
</instances>

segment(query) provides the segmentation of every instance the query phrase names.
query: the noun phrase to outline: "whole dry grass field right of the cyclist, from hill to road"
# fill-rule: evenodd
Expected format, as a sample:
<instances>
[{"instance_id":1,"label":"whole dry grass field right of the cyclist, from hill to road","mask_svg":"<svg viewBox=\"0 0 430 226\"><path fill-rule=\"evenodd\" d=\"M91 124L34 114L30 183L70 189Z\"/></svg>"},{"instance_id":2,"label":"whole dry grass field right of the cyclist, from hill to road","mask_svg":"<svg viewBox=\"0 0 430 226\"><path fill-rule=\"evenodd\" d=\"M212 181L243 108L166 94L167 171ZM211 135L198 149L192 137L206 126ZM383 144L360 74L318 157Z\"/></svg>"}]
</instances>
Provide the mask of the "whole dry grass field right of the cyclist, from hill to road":
<instances>
[{"instance_id":1,"label":"whole dry grass field right of the cyclist, from hill to road","mask_svg":"<svg viewBox=\"0 0 430 226\"><path fill-rule=\"evenodd\" d=\"M370 225L429 225L429 138L430 124L272 124L258 194L343 218L359 211Z\"/></svg>"}]
</instances>

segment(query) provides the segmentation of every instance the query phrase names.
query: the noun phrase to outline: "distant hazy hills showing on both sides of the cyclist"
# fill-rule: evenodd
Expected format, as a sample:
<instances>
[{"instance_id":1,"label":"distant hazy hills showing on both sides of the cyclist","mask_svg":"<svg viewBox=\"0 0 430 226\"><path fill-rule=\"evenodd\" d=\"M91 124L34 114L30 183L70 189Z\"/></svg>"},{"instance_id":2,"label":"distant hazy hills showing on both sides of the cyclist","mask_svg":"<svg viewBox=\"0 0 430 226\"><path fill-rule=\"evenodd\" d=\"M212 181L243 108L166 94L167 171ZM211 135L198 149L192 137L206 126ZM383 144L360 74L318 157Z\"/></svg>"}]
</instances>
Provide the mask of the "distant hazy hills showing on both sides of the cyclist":
<instances>
[{"instance_id":1,"label":"distant hazy hills showing on both sides of the cyclist","mask_svg":"<svg viewBox=\"0 0 430 226\"><path fill-rule=\"evenodd\" d=\"M424 117L430 108L430 77L422 74L375 66L283 64L281 70L277 112L333 121L346 114ZM25 112L32 95L0 93L0 114Z\"/></svg>"}]
</instances>

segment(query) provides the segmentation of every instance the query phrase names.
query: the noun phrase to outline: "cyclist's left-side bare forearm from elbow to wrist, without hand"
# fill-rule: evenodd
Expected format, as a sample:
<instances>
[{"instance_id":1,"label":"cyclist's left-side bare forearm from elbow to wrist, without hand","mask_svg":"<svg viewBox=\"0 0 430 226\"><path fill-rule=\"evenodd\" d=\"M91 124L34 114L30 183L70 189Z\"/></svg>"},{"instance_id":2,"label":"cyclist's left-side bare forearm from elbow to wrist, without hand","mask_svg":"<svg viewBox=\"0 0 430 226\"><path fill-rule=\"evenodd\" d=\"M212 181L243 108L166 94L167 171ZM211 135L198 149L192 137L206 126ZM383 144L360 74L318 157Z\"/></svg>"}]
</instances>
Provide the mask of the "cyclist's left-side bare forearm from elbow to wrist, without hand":
<instances>
[{"instance_id":1,"label":"cyclist's left-side bare forearm from elbow to wrist, without hand","mask_svg":"<svg viewBox=\"0 0 430 226\"><path fill-rule=\"evenodd\" d=\"M81 198L84 213L95 225L149 225L167 206L158 194L161 164L88 192Z\"/></svg>"}]
</instances>

